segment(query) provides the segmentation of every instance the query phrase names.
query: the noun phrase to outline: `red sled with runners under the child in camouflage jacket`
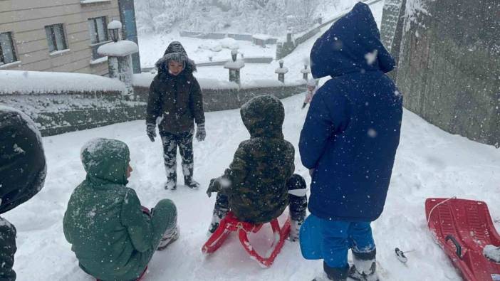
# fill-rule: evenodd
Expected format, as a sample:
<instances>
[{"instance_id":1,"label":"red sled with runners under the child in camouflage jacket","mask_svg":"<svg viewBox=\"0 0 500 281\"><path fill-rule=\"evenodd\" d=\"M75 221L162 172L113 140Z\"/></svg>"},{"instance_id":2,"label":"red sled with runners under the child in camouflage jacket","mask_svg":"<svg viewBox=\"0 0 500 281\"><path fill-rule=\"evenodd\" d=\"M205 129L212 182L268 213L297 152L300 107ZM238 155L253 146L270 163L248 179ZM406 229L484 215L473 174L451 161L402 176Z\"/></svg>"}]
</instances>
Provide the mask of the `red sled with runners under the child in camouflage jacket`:
<instances>
[{"instance_id":1,"label":"red sled with runners under the child in camouflage jacket","mask_svg":"<svg viewBox=\"0 0 500 281\"><path fill-rule=\"evenodd\" d=\"M215 232L210 236L207 243L203 245L202 252L203 253L214 253L219 247L224 243L229 233L236 231L238 233L239 241L243 248L246 250L252 258L254 258L259 264L264 267L270 267L274 263L274 259L278 255L281 248L283 248L283 243L285 243L285 239L288 237L290 233L290 221L286 220L283 227L279 227L278 219L275 218L271 221L271 228L274 233L274 237L276 238L271 245L271 254L269 257L262 257L259 255L254 248L251 246L249 242L249 238L247 236L248 233L257 233L261 228L262 224L254 224L254 223L245 223L239 221L234 214L230 211L226 217L222 219L219 224L219 228L215 230Z\"/></svg>"}]
</instances>

